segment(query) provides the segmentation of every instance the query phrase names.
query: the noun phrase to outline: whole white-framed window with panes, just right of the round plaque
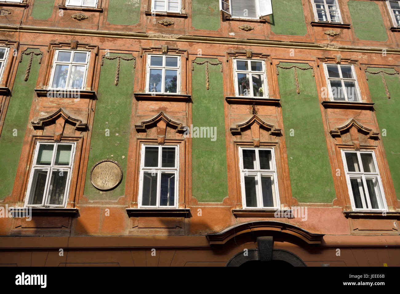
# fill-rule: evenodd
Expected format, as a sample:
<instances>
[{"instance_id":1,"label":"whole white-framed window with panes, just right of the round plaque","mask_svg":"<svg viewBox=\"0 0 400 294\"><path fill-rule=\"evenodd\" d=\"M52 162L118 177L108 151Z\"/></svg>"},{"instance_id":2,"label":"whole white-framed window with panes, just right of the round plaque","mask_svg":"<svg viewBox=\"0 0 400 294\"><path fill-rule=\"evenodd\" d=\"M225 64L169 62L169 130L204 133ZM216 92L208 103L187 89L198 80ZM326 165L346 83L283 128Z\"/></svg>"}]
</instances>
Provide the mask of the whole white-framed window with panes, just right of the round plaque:
<instances>
[{"instance_id":1,"label":"whole white-framed window with panes, just right of the round plaque","mask_svg":"<svg viewBox=\"0 0 400 294\"><path fill-rule=\"evenodd\" d=\"M139 207L176 208L178 146L142 145Z\"/></svg>"}]
</instances>

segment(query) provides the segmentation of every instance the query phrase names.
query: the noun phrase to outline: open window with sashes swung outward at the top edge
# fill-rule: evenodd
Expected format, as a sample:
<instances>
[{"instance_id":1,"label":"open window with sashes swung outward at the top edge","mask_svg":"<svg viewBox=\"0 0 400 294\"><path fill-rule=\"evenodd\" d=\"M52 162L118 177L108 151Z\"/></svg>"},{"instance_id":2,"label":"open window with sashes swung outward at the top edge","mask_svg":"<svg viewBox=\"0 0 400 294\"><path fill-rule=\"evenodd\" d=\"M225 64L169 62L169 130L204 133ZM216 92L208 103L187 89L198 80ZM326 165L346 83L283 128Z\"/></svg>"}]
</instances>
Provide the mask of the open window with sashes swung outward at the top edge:
<instances>
[{"instance_id":1,"label":"open window with sashes swung outward at the top edge","mask_svg":"<svg viewBox=\"0 0 400 294\"><path fill-rule=\"evenodd\" d=\"M220 0L220 10L232 18L260 18L272 14L271 0Z\"/></svg>"}]
</instances>

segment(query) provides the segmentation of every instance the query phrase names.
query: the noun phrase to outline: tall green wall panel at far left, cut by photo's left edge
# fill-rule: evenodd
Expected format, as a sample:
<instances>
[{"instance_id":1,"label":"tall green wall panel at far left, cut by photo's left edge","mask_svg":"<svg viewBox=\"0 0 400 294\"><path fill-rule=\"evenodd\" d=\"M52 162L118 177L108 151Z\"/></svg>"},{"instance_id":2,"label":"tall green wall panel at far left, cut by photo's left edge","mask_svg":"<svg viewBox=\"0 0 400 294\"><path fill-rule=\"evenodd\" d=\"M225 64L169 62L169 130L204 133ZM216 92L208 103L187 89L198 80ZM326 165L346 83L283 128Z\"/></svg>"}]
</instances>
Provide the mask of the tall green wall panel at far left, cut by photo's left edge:
<instances>
[{"instance_id":1,"label":"tall green wall panel at far left, cut by photo's left edge","mask_svg":"<svg viewBox=\"0 0 400 294\"><path fill-rule=\"evenodd\" d=\"M39 52L38 49L28 48L27 52L30 51ZM0 156L0 166L2 167L0 169L0 200L10 195L14 186L34 96L33 89L38 79L40 55L33 55L28 81L24 81L29 59L29 55L24 55L22 62L18 64L12 96L10 103L8 103L6 118L0 135L0 150L6 150L6 153ZM16 129L16 136L14 136L14 129Z\"/></svg>"}]
</instances>

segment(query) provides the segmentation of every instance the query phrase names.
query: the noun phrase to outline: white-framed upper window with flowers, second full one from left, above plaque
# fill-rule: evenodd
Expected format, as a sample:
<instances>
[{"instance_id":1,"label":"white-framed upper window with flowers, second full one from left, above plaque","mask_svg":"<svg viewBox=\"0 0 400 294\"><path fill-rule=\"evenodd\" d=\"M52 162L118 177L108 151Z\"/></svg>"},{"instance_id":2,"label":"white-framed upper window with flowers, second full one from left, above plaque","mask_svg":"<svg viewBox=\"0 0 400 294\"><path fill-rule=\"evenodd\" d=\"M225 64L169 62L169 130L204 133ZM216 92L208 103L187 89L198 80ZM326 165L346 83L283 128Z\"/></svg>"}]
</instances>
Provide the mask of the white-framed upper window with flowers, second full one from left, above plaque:
<instances>
[{"instance_id":1,"label":"white-framed upper window with flowers, second full one from left, above plaque","mask_svg":"<svg viewBox=\"0 0 400 294\"><path fill-rule=\"evenodd\" d=\"M179 93L180 56L149 55L146 84L147 92Z\"/></svg>"}]
</instances>

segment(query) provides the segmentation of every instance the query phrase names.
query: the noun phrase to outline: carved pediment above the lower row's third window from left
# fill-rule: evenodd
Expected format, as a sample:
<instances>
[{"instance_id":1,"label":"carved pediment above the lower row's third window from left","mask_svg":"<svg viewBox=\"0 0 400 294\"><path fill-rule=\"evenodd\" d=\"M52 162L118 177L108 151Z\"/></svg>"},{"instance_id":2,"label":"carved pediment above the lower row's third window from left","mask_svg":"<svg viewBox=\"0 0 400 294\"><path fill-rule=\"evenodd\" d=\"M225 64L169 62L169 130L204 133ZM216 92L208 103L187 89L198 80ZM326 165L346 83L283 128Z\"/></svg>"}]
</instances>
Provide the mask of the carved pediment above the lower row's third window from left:
<instances>
[{"instance_id":1,"label":"carved pediment above the lower row's third window from left","mask_svg":"<svg viewBox=\"0 0 400 294\"><path fill-rule=\"evenodd\" d=\"M243 135L244 132L250 130L254 147L260 146L260 129L267 131L270 135L281 136L281 129L276 128L274 125L266 123L257 115L253 115L248 121L237 124L236 127L231 127L230 132L232 135Z\"/></svg>"}]
</instances>

